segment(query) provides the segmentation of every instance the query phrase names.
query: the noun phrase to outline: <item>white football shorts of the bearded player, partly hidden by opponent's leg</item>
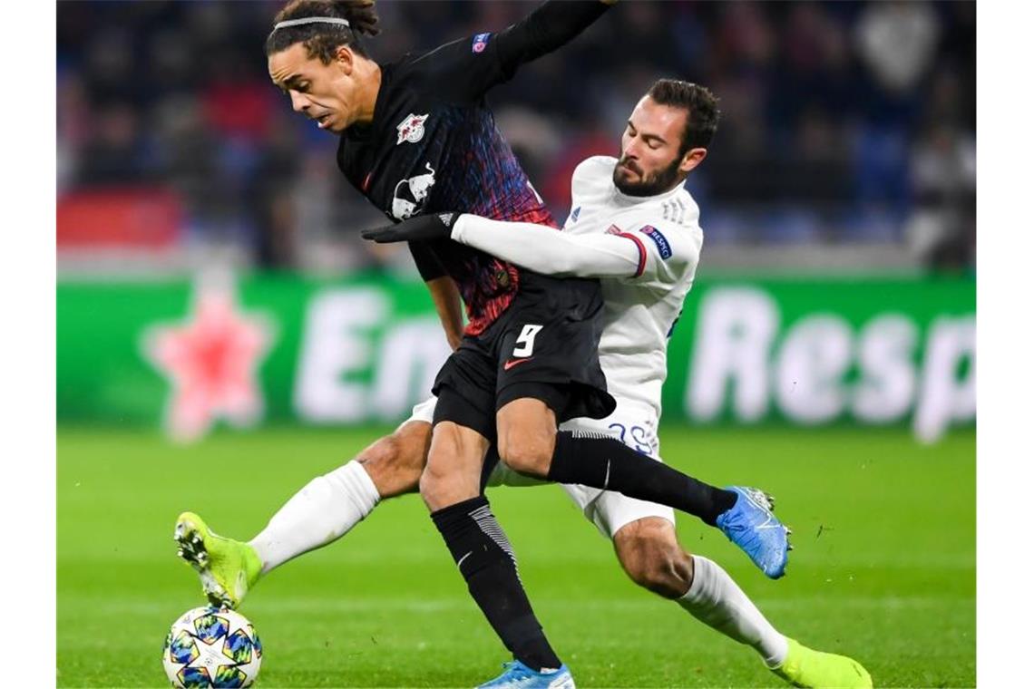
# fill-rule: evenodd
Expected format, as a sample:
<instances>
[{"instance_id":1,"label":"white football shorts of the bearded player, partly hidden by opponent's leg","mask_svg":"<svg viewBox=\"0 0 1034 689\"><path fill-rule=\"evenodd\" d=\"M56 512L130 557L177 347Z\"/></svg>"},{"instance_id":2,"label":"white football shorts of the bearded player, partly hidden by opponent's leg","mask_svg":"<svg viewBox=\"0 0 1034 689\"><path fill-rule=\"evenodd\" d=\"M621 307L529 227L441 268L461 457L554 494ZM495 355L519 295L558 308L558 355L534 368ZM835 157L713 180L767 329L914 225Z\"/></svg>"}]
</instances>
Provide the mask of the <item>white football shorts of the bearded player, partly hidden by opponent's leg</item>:
<instances>
[{"instance_id":1,"label":"white football shorts of the bearded player, partly hidden by opponent's leg","mask_svg":"<svg viewBox=\"0 0 1034 689\"><path fill-rule=\"evenodd\" d=\"M430 424L434 416L435 398L424 400L413 408L407 421ZM591 431L613 436L629 447L661 462L661 443L657 437L657 415L653 409L617 398L617 408L606 418L573 418L560 425L561 431ZM522 476L499 462L488 478L489 486L541 486L545 481ZM675 510L655 502L629 498L613 491L586 486L562 486L568 496L607 538L621 527L647 516L660 516L675 524Z\"/></svg>"}]
</instances>

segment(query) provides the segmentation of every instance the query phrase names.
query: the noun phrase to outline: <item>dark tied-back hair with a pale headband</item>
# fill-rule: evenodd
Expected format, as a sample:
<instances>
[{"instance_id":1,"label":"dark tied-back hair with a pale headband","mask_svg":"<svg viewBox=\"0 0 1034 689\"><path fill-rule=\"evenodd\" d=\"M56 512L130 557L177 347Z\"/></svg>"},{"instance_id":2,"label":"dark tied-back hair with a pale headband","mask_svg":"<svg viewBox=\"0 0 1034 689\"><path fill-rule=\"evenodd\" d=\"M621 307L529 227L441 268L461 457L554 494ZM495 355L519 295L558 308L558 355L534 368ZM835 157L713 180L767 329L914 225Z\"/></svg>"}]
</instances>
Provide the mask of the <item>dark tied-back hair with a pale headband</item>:
<instances>
[{"instance_id":1,"label":"dark tied-back hair with a pale headband","mask_svg":"<svg viewBox=\"0 0 1034 689\"><path fill-rule=\"evenodd\" d=\"M276 13L273 22L276 24L308 17L348 20L349 26L313 23L275 29L266 38L266 55L302 43L310 58L320 58L324 64L330 64L339 45L347 45L359 55L368 57L359 36L375 36L381 33L373 0L291 0Z\"/></svg>"}]
</instances>

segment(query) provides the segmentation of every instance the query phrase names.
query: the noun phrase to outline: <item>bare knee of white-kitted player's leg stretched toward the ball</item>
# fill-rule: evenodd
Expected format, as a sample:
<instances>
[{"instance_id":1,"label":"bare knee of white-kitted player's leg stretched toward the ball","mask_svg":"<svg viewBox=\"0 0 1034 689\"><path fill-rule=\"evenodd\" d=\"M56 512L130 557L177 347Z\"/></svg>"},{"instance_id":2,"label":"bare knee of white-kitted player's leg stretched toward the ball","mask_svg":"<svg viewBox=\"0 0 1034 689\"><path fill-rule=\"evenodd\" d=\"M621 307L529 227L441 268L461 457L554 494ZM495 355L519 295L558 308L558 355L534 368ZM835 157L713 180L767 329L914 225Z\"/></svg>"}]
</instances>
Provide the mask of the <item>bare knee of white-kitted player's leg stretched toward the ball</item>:
<instances>
[{"instance_id":1,"label":"bare knee of white-kitted player's leg stretched toward the ball","mask_svg":"<svg viewBox=\"0 0 1034 689\"><path fill-rule=\"evenodd\" d=\"M376 440L360 452L357 460L366 469L381 498L392 498L419 490L430 444L431 425L409 421L390 436Z\"/></svg>"}]
</instances>

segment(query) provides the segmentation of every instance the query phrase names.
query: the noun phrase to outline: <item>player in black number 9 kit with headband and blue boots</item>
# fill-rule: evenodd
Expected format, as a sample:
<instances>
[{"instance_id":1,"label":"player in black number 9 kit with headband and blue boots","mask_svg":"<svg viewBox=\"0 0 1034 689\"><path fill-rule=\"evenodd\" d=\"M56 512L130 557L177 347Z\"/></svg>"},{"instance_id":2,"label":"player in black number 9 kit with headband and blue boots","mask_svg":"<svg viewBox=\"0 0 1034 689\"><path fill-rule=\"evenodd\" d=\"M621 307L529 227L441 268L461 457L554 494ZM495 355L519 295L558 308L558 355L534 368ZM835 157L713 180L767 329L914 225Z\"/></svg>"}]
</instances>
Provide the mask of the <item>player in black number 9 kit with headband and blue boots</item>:
<instances>
[{"instance_id":1,"label":"player in black number 9 kit with headband and blue boots","mask_svg":"<svg viewBox=\"0 0 1034 689\"><path fill-rule=\"evenodd\" d=\"M342 171L393 220L461 211L555 226L495 129L484 95L523 62L572 39L607 4L547 2L497 34L378 65L359 38L376 32L372 2L296 0L278 14L268 39L270 75L297 112L341 135ZM711 525L721 526L722 518L726 534L766 573L782 574L782 527L767 532L778 531L781 541L759 539L752 527L759 520L771 523L766 506L744 504L735 493L645 460L616 440L556 433L558 420L606 415L613 405L595 351L602 304L595 281L538 276L447 240L412 243L410 250L450 342L459 345L436 381L422 493L472 594L522 667L542 675L544 686L562 684L561 663L531 614L509 544L481 493L482 464L493 441L504 460L527 473L669 504ZM468 316L462 338L455 285ZM365 481L359 465L341 480L368 490L372 479L379 497L408 490L429 440L426 424L407 426L414 428L364 452L372 460L365 464L372 469ZM381 462L378 476L375 458L394 463ZM196 525L181 524L178 537L189 555ZM205 562L194 564L204 578ZM246 591L253 563L245 569ZM215 588L206 582L206 589ZM243 595L242 582L234 588L235 597ZM503 684L512 679L500 678Z\"/></svg>"}]
</instances>

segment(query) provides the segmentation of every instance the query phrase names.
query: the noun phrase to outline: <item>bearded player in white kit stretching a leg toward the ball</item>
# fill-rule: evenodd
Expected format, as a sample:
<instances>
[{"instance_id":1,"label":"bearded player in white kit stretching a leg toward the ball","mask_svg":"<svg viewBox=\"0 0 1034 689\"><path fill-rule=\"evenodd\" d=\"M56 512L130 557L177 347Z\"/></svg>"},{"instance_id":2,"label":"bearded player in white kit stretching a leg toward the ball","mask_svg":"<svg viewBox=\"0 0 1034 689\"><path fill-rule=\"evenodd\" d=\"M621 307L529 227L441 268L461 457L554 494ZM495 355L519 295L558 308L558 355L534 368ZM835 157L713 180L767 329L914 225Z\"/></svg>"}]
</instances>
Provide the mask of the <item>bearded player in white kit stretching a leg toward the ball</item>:
<instances>
[{"instance_id":1,"label":"bearded player in white kit stretching a leg toward the ball","mask_svg":"<svg viewBox=\"0 0 1034 689\"><path fill-rule=\"evenodd\" d=\"M601 278L600 361L617 408L605 419L573 419L562 428L616 434L660 461L657 426L667 338L692 286L703 240L699 210L683 183L706 156L710 135L695 146L700 132L709 128L712 133L717 119L717 103L706 89L673 80L655 84L629 120L620 158L589 158L576 169L562 231L446 214L366 236L382 242L448 237L536 272ZM432 399L418 405L407 422L429 424L433 404ZM499 466L489 482L534 482L517 473L521 469ZM340 470L314 479L249 543L217 536L196 515L185 515L202 541L206 591L239 604L261 573L340 537L365 518L378 500L376 488L368 483L369 478L362 481ZM686 553L671 508L610 491L564 488L613 540L637 584L754 648L779 677L796 686L872 686L856 661L813 651L779 633L721 566ZM328 533L336 536L328 540Z\"/></svg>"}]
</instances>

